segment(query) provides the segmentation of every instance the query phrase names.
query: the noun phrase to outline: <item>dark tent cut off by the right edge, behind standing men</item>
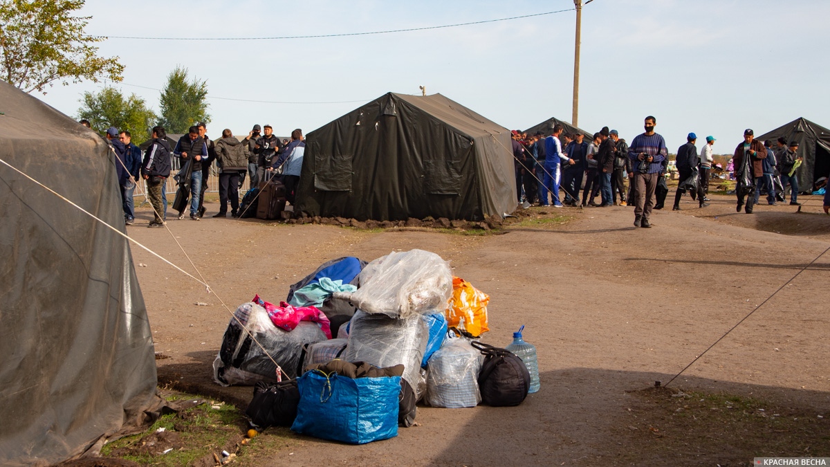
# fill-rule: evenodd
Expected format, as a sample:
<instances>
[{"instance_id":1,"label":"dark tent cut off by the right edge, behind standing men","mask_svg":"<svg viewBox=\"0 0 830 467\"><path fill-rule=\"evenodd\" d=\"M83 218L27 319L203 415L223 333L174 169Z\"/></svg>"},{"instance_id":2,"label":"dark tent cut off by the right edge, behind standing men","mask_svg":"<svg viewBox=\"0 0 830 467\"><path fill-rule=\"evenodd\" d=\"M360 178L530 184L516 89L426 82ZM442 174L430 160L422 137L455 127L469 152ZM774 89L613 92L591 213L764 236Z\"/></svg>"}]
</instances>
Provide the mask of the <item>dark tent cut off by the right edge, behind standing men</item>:
<instances>
[{"instance_id":1,"label":"dark tent cut off by the right edge, behind standing men","mask_svg":"<svg viewBox=\"0 0 830 467\"><path fill-rule=\"evenodd\" d=\"M812 191L816 180L830 175L830 130L798 118L764 135L755 136L755 139L775 142L779 137L787 140L788 145L793 140L798 141L798 156L803 158L801 167L796 170L798 189Z\"/></svg>"}]
</instances>

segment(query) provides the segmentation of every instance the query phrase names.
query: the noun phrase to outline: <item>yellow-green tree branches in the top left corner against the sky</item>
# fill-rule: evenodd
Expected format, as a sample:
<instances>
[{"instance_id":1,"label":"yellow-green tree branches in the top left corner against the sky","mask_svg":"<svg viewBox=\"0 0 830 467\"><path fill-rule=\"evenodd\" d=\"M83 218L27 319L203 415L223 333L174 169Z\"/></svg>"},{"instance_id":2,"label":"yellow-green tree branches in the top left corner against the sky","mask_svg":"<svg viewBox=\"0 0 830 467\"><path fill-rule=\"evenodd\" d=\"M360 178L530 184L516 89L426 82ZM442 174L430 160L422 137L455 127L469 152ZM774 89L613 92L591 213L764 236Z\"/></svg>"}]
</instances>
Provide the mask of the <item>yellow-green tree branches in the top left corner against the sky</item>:
<instances>
[{"instance_id":1,"label":"yellow-green tree branches in the top left corner against the sky","mask_svg":"<svg viewBox=\"0 0 830 467\"><path fill-rule=\"evenodd\" d=\"M105 37L84 32L90 17L73 16L84 0L0 0L0 76L26 92L101 78L121 81L118 57L98 57Z\"/></svg>"}]
</instances>

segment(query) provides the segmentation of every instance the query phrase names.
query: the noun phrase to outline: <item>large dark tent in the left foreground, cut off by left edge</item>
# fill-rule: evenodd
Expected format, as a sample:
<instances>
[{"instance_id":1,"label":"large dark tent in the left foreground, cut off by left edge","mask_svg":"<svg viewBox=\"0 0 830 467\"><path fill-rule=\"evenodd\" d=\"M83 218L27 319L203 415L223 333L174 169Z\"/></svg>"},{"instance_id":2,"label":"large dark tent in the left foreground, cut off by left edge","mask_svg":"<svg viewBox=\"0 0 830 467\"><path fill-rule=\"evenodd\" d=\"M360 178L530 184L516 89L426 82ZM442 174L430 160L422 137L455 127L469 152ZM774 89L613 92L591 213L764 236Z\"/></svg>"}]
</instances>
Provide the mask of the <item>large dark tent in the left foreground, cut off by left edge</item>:
<instances>
[{"instance_id":1,"label":"large dark tent in the left foreground, cut off by left edge","mask_svg":"<svg viewBox=\"0 0 830 467\"><path fill-rule=\"evenodd\" d=\"M125 231L100 136L2 81L0 112L0 159ZM160 408L153 340L125 238L2 164L0 200L0 465L51 464Z\"/></svg>"}]
</instances>

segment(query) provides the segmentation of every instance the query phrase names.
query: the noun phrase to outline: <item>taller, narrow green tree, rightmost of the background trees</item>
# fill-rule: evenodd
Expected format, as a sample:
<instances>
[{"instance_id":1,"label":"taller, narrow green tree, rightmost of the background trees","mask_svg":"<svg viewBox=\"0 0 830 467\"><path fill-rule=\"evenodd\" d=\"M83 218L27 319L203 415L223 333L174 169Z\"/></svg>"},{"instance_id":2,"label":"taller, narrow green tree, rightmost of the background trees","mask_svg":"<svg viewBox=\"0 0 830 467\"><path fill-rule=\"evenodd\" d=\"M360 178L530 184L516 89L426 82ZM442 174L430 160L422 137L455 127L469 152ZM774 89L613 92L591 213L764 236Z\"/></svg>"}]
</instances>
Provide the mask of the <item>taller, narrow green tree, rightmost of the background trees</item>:
<instances>
[{"instance_id":1,"label":"taller, narrow green tree, rightmost of the background trees","mask_svg":"<svg viewBox=\"0 0 830 467\"><path fill-rule=\"evenodd\" d=\"M161 120L168 133L187 133L197 121L207 123L207 81L193 78L188 82L188 69L176 66L167 77L167 85L161 91Z\"/></svg>"}]
</instances>

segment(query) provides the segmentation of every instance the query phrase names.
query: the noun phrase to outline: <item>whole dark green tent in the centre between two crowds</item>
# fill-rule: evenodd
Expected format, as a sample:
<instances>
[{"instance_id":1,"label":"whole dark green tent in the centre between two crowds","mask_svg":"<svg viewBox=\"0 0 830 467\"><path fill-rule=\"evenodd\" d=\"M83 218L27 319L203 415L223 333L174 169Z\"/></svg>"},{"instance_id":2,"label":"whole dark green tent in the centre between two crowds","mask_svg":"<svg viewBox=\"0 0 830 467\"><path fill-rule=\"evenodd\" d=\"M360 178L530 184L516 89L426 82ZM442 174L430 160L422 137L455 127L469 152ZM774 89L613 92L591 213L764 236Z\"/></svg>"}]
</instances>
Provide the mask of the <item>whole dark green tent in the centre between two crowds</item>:
<instances>
[{"instance_id":1,"label":"whole dark green tent in the centre between two crowds","mask_svg":"<svg viewBox=\"0 0 830 467\"><path fill-rule=\"evenodd\" d=\"M297 211L481 220L516 208L510 130L440 94L388 93L312 131Z\"/></svg>"}]
</instances>

